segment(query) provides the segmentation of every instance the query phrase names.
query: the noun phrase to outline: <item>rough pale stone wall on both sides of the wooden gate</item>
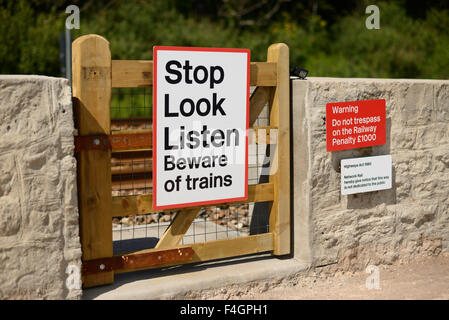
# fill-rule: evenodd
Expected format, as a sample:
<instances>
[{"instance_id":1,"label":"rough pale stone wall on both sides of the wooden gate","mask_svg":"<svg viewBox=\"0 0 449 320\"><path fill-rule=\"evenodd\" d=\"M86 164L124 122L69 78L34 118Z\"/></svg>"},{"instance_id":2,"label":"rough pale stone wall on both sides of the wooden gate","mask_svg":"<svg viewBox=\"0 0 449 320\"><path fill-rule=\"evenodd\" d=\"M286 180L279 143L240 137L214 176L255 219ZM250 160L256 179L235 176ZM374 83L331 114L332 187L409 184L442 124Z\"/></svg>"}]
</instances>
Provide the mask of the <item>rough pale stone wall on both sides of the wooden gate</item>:
<instances>
[{"instance_id":1,"label":"rough pale stone wall on both sides of the wooden gate","mask_svg":"<svg viewBox=\"0 0 449 320\"><path fill-rule=\"evenodd\" d=\"M327 152L326 103L369 99L386 100L386 144ZM67 80L0 76L0 299L81 297L66 285L81 266L73 131ZM355 270L449 251L449 81L293 80L292 152L290 264ZM341 159L384 154L392 189L341 195Z\"/></svg>"}]
</instances>

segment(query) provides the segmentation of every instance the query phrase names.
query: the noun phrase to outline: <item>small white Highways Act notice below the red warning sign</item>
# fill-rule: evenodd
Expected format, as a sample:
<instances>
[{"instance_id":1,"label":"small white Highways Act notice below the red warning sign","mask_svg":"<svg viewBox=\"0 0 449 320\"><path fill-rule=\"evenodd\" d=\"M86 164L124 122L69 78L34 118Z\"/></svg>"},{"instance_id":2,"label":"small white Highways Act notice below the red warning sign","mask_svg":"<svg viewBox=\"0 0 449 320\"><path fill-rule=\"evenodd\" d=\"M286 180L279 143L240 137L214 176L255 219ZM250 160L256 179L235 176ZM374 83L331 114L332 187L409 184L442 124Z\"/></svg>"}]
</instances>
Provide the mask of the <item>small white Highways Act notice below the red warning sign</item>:
<instances>
[{"instance_id":1,"label":"small white Highways Act notice below the red warning sign","mask_svg":"<svg viewBox=\"0 0 449 320\"><path fill-rule=\"evenodd\" d=\"M391 155L341 160L341 194L391 188Z\"/></svg>"}]
</instances>

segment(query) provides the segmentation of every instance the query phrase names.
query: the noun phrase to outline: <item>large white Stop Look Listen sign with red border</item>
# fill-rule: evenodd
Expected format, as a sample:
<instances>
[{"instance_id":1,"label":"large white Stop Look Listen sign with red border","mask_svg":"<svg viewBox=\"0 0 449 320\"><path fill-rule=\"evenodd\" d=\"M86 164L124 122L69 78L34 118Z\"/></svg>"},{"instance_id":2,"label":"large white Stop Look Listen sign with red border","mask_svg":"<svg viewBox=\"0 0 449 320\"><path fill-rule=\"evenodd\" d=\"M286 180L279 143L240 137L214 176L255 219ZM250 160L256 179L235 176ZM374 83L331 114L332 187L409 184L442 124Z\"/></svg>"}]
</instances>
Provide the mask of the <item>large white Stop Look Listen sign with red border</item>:
<instances>
[{"instance_id":1,"label":"large white Stop Look Listen sign with red border","mask_svg":"<svg viewBox=\"0 0 449 320\"><path fill-rule=\"evenodd\" d=\"M250 51L153 53L153 208L246 199Z\"/></svg>"}]
</instances>

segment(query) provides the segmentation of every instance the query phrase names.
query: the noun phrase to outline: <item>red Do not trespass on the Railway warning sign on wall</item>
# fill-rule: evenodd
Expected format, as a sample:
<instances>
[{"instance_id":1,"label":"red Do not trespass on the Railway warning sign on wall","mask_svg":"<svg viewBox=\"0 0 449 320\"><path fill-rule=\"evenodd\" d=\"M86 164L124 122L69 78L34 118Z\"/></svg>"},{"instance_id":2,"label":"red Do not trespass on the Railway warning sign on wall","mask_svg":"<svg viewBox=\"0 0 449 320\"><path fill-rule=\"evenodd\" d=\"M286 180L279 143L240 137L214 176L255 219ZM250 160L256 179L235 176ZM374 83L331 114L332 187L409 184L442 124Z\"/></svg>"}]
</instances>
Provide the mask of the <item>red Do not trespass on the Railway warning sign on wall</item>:
<instances>
[{"instance_id":1,"label":"red Do not trespass on the Railway warning sign on wall","mask_svg":"<svg viewBox=\"0 0 449 320\"><path fill-rule=\"evenodd\" d=\"M326 104L327 151L385 144L385 99Z\"/></svg>"}]
</instances>

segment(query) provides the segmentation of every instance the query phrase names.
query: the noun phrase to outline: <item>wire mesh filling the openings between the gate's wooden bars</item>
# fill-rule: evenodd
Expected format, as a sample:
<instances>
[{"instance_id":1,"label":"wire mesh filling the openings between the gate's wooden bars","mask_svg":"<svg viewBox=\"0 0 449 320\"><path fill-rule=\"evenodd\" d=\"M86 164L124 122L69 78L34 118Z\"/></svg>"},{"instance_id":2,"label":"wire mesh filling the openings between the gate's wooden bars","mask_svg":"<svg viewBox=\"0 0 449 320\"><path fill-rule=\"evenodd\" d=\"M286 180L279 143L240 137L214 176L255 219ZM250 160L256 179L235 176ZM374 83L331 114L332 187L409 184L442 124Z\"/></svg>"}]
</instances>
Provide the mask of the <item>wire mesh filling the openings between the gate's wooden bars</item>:
<instances>
[{"instance_id":1,"label":"wire mesh filling the openings between the gate's wooden bars","mask_svg":"<svg viewBox=\"0 0 449 320\"><path fill-rule=\"evenodd\" d=\"M252 90L254 88L251 88ZM111 130L152 129L151 88L117 88L111 98ZM255 126L269 125L268 105ZM248 184L268 181L269 147L248 146ZM111 158L112 196L152 193L152 150L113 152ZM200 210L181 244L230 239L269 232L269 203L218 205ZM155 247L179 211L114 217L112 220L114 254Z\"/></svg>"}]
</instances>

